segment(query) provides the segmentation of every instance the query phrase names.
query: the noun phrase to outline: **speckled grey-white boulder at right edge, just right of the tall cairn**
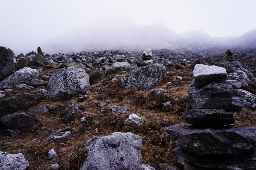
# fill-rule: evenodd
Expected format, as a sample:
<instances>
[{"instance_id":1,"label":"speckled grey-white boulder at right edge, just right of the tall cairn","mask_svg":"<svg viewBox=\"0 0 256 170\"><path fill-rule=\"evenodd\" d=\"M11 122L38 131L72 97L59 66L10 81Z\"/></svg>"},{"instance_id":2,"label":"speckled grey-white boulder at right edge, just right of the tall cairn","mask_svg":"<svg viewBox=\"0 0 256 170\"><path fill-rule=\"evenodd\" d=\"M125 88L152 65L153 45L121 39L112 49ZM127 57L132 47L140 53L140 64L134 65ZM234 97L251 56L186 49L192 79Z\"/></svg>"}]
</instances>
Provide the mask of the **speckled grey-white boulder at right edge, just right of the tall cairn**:
<instances>
[{"instance_id":1,"label":"speckled grey-white boulder at right edge, just right of the tall cairn","mask_svg":"<svg viewBox=\"0 0 256 170\"><path fill-rule=\"evenodd\" d=\"M249 91L237 89L235 90L237 98L243 103L244 107L256 109L256 96Z\"/></svg>"}]
</instances>

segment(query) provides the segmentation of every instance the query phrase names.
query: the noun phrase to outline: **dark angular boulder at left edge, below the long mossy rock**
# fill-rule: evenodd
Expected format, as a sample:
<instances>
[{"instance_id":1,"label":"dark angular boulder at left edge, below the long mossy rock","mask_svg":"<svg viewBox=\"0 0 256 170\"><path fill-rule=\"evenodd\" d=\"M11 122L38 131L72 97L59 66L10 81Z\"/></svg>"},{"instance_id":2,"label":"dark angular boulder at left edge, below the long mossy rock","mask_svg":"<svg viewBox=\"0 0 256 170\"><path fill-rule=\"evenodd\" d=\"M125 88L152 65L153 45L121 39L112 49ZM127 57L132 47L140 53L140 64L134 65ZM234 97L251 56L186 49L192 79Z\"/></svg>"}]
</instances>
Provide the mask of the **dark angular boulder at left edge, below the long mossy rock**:
<instances>
[{"instance_id":1,"label":"dark angular boulder at left edge, below the long mossy rock","mask_svg":"<svg viewBox=\"0 0 256 170\"><path fill-rule=\"evenodd\" d=\"M18 129L20 131L26 131L32 126L42 123L41 120L29 116L24 112L16 112L13 114L7 114L0 118L4 126L9 129Z\"/></svg>"}]
</instances>

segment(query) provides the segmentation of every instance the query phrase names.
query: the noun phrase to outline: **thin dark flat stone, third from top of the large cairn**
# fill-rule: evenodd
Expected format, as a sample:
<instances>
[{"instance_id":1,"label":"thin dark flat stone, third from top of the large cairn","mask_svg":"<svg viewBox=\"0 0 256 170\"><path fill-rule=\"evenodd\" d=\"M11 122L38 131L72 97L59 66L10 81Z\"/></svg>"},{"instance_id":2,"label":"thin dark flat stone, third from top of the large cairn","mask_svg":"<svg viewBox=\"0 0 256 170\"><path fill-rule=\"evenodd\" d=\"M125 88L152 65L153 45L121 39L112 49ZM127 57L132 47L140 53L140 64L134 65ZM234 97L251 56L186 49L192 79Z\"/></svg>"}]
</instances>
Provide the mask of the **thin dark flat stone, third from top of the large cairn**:
<instances>
[{"instance_id":1,"label":"thin dark flat stone, third from top of the large cairn","mask_svg":"<svg viewBox=\"0 0 256 170\"><path fill-rule=\"evenodd\" d=\"M233 113L218 109L192 109L184 113L187 123L193 125L222 126L235 123Z\"/></svg>"}]
</instances>

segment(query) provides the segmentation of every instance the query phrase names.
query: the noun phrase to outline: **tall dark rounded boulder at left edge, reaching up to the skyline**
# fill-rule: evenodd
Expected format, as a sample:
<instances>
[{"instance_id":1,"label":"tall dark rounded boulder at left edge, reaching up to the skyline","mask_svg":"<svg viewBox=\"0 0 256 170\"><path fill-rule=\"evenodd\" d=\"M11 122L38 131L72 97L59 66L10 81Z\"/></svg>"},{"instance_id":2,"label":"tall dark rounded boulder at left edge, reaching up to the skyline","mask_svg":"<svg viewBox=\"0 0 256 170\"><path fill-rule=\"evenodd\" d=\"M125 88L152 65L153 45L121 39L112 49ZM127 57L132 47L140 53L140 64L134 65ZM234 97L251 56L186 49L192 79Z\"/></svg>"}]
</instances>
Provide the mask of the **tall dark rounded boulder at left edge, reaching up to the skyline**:
<instances>
[{"instance_id":1,"label":"tall dark rounded boulder at left edge, reaching up to the skyline","mask_svg":"<svg viewBox=\"0 0 256 170\"><path fill-rule=\"evenodd\" d=\"M6 47L0 47L0 81L14 71L14 52Z\"/></svg>"}]
</instances>

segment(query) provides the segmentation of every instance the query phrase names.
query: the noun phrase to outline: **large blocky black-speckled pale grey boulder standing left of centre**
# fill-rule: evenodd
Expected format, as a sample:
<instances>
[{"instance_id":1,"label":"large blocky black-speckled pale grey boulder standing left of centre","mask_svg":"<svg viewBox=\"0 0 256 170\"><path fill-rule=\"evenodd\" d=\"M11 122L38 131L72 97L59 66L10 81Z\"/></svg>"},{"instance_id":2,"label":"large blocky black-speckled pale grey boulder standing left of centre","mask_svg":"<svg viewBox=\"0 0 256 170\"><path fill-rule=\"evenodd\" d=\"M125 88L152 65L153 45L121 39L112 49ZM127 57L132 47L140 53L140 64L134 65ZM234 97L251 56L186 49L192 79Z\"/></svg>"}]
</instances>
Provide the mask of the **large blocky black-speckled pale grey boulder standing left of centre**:
<instances>
[{"instance_id":1,"label":"large blocky black-speckled pale grey boulder standing left of centre","mask_svg":"<svg viewBox=\"0 0 256 170\"><path fill-rule=\"evenodd\" d=\"M50 78L48 95L51 100L64 100L85 93L89 86L89 75L83 69L65 67Z\"/></svg>"}]
</instances>

